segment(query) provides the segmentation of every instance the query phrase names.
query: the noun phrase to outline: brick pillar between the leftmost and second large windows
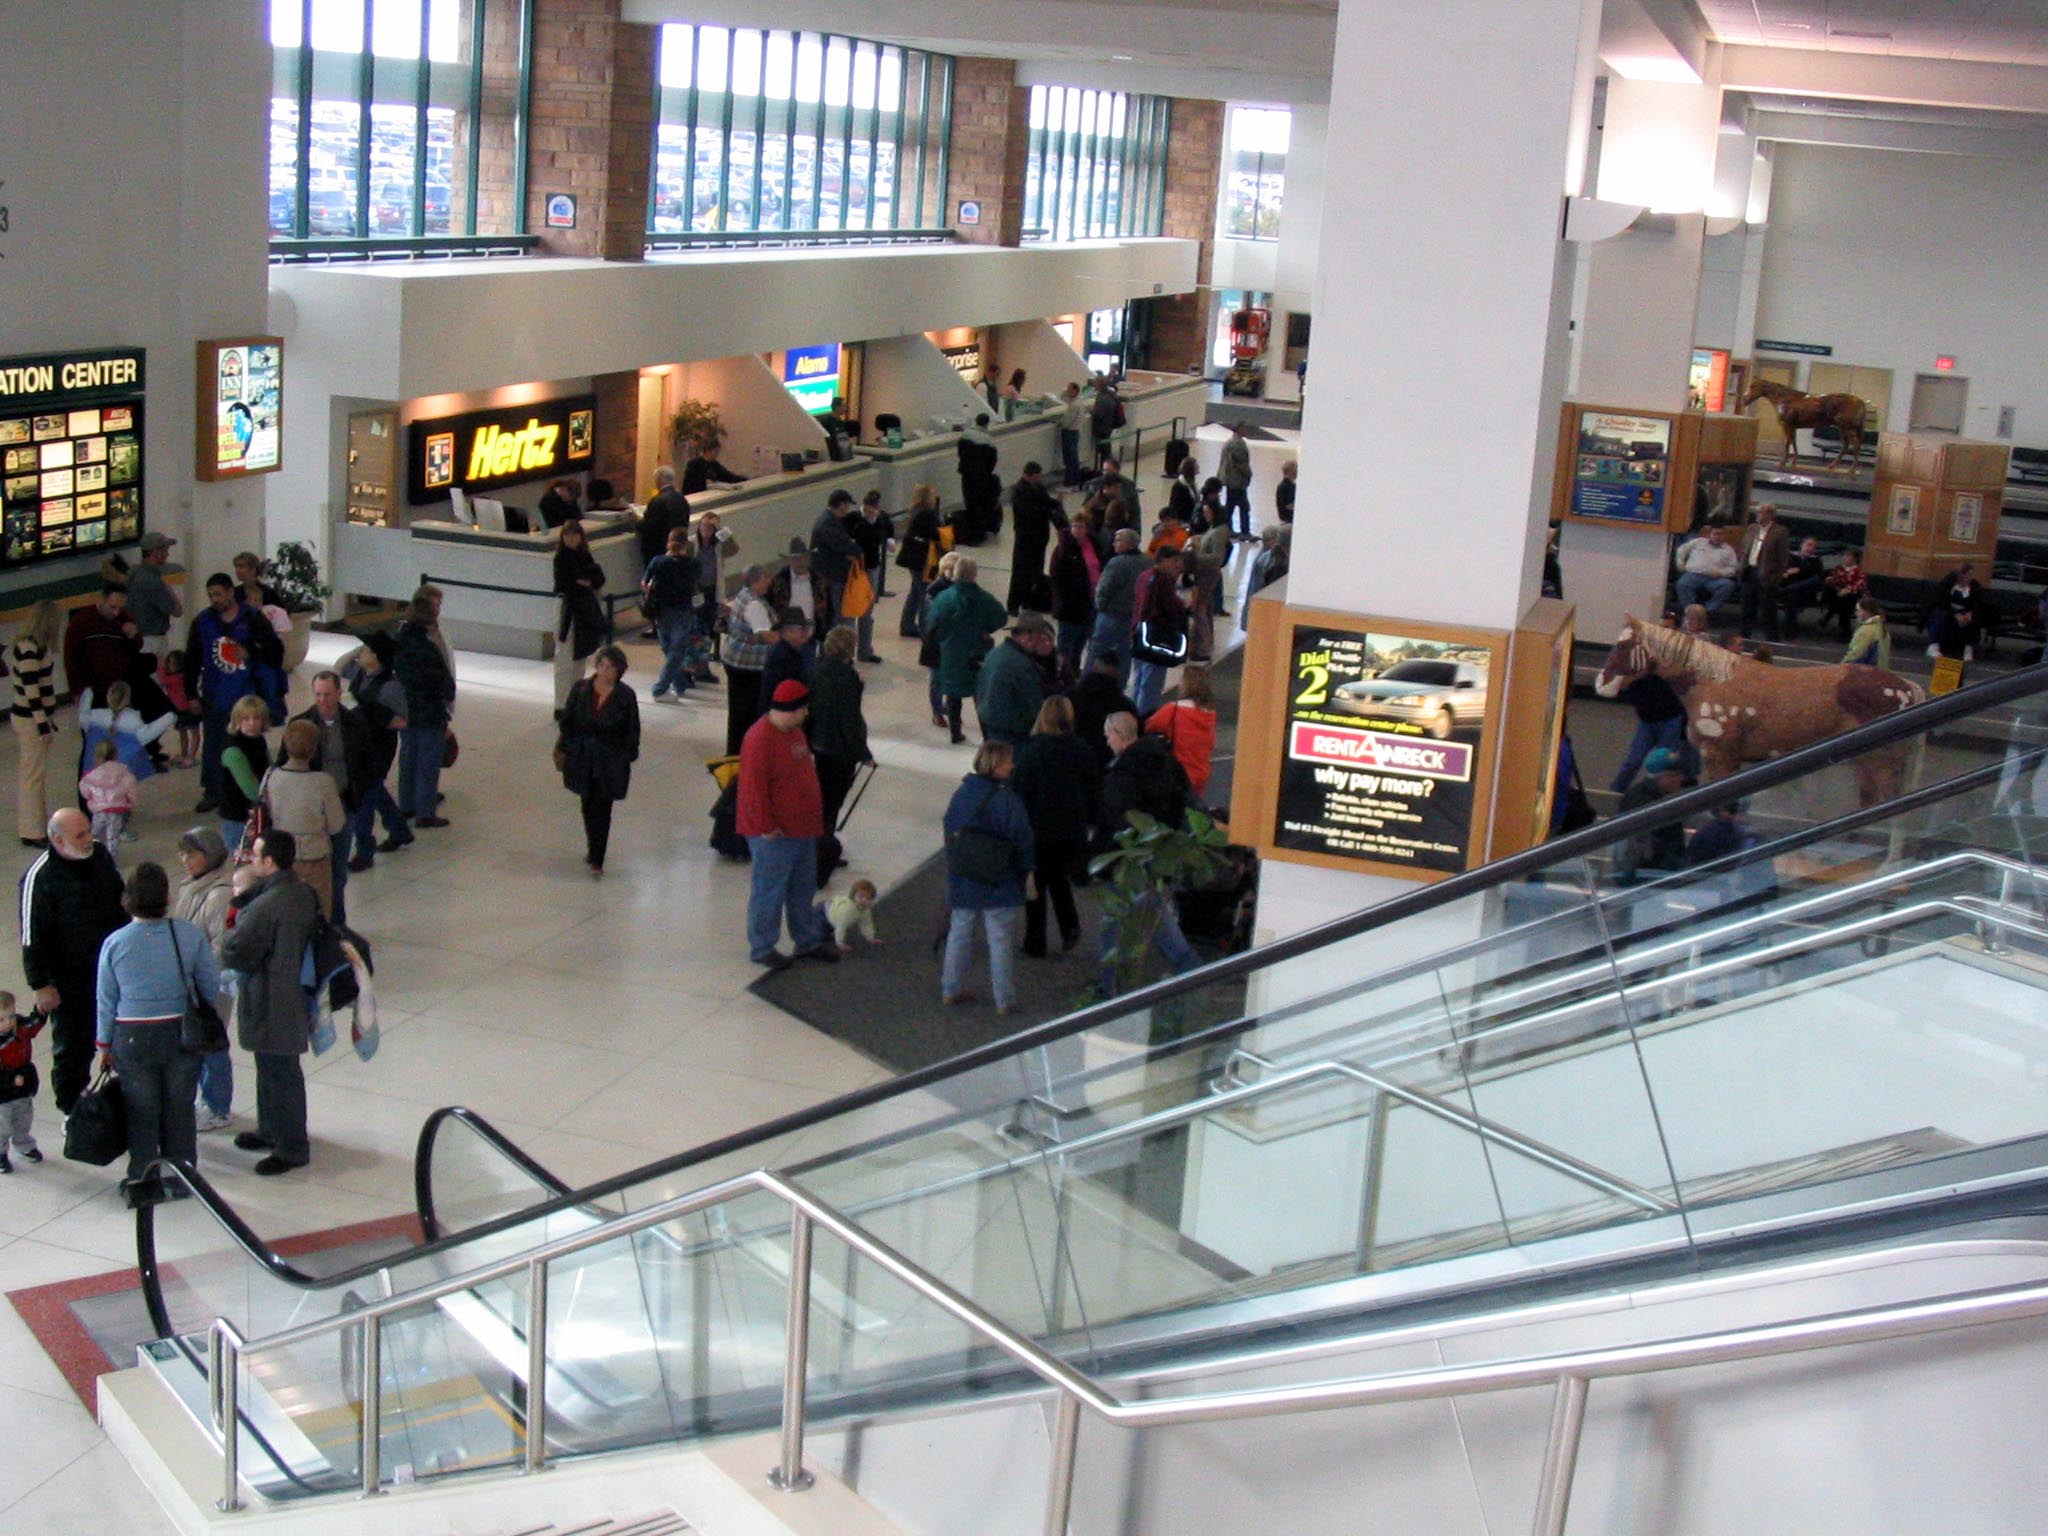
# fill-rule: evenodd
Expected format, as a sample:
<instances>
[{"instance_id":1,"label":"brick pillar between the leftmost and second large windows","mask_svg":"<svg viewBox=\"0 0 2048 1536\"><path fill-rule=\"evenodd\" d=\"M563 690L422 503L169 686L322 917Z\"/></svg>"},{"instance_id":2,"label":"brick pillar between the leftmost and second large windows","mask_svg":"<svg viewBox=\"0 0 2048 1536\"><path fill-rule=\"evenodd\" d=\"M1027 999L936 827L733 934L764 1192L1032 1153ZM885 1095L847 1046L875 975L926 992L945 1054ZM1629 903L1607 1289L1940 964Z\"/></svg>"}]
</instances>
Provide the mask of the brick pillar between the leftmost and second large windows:
<instances>
[{"instance_id":1,"label":"brick pillar between the leftmost and second large windows","mask_svg":"<svg viewBox=\"0 0 2048 1536\"><path fill-rule=\"evenodd\" d=\"M618 0L537 0L526 227L543 252L639 260L657 39L618 20ZM553 193L575 197L573 229L545 227Z\"/></svg>"}]
</instances>

